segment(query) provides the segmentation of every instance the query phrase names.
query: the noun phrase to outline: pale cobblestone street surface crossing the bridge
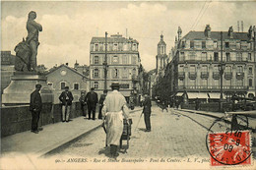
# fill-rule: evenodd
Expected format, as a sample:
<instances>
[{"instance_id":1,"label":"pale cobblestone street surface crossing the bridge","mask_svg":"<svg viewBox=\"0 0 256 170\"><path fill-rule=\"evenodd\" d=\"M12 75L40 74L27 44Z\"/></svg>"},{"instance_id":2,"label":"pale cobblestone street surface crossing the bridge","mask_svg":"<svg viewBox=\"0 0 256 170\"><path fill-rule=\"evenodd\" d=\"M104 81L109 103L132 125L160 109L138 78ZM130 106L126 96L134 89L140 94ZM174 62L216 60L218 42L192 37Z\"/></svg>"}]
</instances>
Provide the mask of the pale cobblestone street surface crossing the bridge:
<instances>
[{"instance_id":1,"label":"pale cobblestone street surface crossing the bridge","mask_svg":"<svg viewBox=\"0 0 256 170\"><path fill-rule=\"evenodd\" d=\"M188 157L198 156L209 158L206 147L207 129L197 122L189 119L187 113L170 110L162 112L160 108L153 106L151 117L152 132L146 133L144 118L138 125L141 111L131 114L133 119L132 137L127 153L120 150L119 158L128 157ZM195 115L200 117L198 115ZM206 127L210 127L215 120L211 117L198 118ZM86 122L85 122L86 123ZM105 150L105 134L103 129L97 129L89 136L72 143L68 148L60 150L52 156L62 157L74 155L83 157L105 157L109 150ZM123 141L124 147L126 141Z\"/></svg>"}]
</instances>

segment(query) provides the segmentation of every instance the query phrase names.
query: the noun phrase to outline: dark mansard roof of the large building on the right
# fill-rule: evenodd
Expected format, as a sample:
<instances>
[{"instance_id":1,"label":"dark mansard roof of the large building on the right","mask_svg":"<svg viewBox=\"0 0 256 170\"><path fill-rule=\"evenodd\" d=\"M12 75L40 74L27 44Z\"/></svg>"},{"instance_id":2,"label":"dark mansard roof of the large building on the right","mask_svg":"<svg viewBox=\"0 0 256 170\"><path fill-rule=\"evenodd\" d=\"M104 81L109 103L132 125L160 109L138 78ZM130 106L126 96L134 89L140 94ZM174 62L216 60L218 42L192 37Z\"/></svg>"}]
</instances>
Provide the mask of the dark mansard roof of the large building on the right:
<instances>
[{"instance_id":1,"label":"dark mansard roof of the large building on the right","mask_svg":"<svg viewBox=\"0 0 256 170\"><path fill-rule=\"evenodd\" d=\"M228 36L228 31L224 31L223 38L224 39L240 39L240 40L249 40L248 32L233 32L233 38ZM206 39L204 31L189 31L182 39ZM221 31L211 31L212 39L221 40Z\"/></svg>"}]
</instances>

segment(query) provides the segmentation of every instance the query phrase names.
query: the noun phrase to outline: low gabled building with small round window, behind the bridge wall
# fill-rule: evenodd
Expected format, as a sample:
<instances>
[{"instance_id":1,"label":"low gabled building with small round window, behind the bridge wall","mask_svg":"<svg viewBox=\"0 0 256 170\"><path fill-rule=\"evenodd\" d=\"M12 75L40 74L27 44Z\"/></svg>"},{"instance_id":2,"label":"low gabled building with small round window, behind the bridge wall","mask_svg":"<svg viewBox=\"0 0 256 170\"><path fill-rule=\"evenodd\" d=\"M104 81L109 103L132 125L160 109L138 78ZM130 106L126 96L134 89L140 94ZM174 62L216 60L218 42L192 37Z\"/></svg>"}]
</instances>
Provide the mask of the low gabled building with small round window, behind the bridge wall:
<instances>
[{"instance_id":1,"label":"low gabled building with small round window, behind the bridge wall","mask_svg":"<svg viewBox=\"0 0 256 170\"><path fill-rule=\"evenodd\" d=\"M73 93L74 102L79 101L81 91L89 91L88 78L67 65L62 64L55 67L45 76L47 77L47 85L54 94L54 103L60 102L59 95L65 90L65 86L69 86Z\"/></svg>"}]
</instances>

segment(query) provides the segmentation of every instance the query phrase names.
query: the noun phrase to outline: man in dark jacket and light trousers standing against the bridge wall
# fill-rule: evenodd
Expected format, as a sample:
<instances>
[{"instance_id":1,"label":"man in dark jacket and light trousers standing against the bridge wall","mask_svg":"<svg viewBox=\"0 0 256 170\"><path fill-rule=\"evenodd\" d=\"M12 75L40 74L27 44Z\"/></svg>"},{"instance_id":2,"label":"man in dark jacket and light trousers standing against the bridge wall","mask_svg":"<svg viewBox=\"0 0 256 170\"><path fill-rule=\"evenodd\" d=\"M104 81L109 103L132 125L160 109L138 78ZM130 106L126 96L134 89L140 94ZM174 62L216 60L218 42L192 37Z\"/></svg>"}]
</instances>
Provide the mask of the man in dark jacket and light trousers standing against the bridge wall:
<instances>
[{"instance_id":1,"label":"man in dark jacket and light trousers standing against the bridge wall","mask_svg":"<svg viewBox=\"0 0 256 170\"><path fill-rule=\"evenodd\" d=\"M71 112L73 99L73 94L71 91L69 91L69 86L65 86L65 91L63 91L59 96L59 100L61 101L62 105L62 122L69 122L69 115Z\"/></svg>"}]
</instances>

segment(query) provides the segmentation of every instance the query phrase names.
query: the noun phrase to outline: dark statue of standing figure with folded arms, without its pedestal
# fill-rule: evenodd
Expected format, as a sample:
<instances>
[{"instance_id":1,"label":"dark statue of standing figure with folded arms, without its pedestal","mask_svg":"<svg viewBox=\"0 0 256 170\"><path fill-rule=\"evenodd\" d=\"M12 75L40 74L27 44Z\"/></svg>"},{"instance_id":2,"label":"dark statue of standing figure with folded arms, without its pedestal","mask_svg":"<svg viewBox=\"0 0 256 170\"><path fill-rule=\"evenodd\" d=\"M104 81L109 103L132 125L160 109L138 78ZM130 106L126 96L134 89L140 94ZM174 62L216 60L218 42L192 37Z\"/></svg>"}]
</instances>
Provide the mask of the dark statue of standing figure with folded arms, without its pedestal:
<instances>
[{"instance_id":1,"label":"dark statue of standing figure with folded arms, without its pedestal","mask_svg":"<svg viewBox=\"0 0 256 170\"><path fill-rule=\"evenodd\" d=\"M35 72L36 71L36 55L39 31L42 31L40 24L34 21L36 19L36 13L31 11L29 13L29 19L27 22L28 36L23 39L15 47L16 60L15 60L15 70L21 72Z\"/></svg>"}]
</instances>

